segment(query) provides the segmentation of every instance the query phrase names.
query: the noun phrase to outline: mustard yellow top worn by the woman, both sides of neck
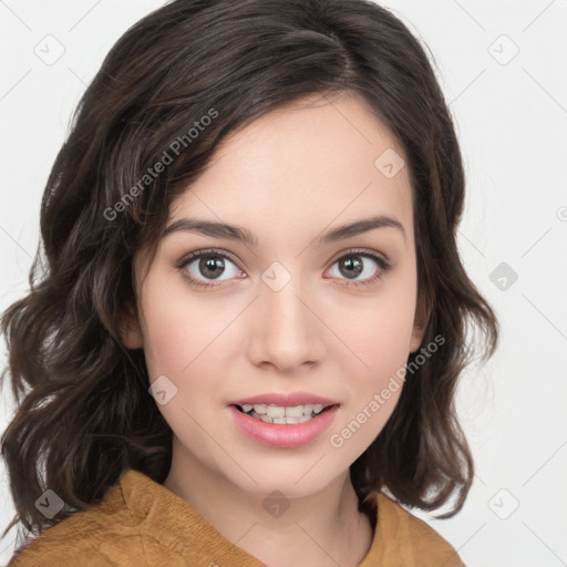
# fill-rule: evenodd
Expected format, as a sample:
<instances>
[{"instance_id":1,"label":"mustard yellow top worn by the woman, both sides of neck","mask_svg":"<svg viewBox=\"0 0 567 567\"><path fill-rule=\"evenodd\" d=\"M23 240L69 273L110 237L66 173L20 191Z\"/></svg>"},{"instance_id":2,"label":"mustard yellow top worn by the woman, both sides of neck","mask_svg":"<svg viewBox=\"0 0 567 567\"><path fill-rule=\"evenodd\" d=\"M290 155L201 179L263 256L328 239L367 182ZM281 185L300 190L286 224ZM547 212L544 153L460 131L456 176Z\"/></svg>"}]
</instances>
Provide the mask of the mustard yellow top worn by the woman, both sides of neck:
<instances>
[{"instance_id":1,"label":"mustard yellow top worn by the woman, both sides of neck","mask_svg":"<svg viewBox=\"0 0 567 567\"><path fill-rule=\"evenodd\" d=\"M433 528L383 493L359 567L464 567ZM181 496L126 471L104 498L44 530L8 567L265 567L226 539Z\"/></svg>"}]
</instances>

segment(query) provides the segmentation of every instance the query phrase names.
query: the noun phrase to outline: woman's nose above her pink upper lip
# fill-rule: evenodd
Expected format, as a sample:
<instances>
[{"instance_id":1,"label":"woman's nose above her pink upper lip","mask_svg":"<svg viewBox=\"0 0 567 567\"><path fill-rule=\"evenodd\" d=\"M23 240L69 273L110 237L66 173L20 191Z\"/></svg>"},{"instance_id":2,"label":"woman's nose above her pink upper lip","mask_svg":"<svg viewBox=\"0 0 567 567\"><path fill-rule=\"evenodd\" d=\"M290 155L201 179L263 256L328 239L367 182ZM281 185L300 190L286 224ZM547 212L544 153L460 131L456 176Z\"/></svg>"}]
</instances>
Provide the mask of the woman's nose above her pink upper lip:
<instances>
[{"instance_id":1,"label":"woman's nose above her pink upper lip","mask_svg":"<svg viewBox=\"0 0 567 567\"><path fill-rule=\"evenodd\" d=\"M260 285L249 326L249 358L256 365L298 373L323 359L326 326L299 277L276 289Z\"/></svg>"}]
</instances>

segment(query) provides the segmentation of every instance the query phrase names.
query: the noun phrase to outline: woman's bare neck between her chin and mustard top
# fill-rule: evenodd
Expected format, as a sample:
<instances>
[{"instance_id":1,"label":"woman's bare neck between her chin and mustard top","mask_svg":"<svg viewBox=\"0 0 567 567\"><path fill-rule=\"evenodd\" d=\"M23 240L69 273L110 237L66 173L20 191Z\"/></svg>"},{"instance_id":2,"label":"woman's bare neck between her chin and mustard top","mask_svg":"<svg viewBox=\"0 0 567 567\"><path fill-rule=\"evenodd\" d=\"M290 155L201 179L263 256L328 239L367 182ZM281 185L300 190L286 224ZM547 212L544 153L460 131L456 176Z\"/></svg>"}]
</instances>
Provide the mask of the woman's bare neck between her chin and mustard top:
<instances>
[{"instance_id":1,"label":"woman's bare neck between her chin and mustard top","mask_svg":"<svg viewBox=\"0 0 567 567\"><path fill-rule=\"evenodd\" d=\"M176 449L174 441L163 485L265 565L354 567L367 556L373 530L369 517L358 511L349 471L315 494L278 501L239 489Z\"/></svg>"}]
</instances>

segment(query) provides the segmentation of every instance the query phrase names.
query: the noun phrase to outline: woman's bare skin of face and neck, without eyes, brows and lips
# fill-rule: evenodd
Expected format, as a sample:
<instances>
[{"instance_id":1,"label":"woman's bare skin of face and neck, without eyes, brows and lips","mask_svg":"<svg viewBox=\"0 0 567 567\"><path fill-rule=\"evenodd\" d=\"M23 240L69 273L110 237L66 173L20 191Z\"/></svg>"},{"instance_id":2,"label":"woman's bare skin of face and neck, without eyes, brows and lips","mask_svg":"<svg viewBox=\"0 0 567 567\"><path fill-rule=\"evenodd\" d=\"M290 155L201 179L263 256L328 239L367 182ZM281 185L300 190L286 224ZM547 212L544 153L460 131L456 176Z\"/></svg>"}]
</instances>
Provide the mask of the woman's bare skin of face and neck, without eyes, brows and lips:
<instances>
[{"instance_id":1,"label":"woman's bare skin of face and neck, without eyes, brows and lips","mask_svg":"<svg viewBox=\"0 0 567 567\"><path fill-rule=\"evenodd\" d=\"M168 226L185 217L235 224L258 245L176 231L151 260L135 258L137 318L124 343L144 349L151 382L165 374L177 388L158 405L174 432L164 486L272 567L355 566L371 546L349 466L382 430L401 388L341 447L329 436L369 405L423 338L409 172L388 178L374 166L388 148L404 156L353 93L279 109L226 138L171 207ZM372 215L395 217L405 236L382 227L315 243ZM199 259L175 267L206 248L237 262L224 259L216 276L199 270ZM352 288L352 279L382 271L362 257L363 272L349 279L337 260L355 248L385 256L391 269ZM353 256L360 252L347 259ZM274 261L291 277L279 291L261 279ZM216 287L194 288L184 271ZM297 390L340 403L331 426L301 447L256 443L227 410L237 399ZM290 504L277 518L262 507L272 491Z\"/></svg>"}]
</instances>

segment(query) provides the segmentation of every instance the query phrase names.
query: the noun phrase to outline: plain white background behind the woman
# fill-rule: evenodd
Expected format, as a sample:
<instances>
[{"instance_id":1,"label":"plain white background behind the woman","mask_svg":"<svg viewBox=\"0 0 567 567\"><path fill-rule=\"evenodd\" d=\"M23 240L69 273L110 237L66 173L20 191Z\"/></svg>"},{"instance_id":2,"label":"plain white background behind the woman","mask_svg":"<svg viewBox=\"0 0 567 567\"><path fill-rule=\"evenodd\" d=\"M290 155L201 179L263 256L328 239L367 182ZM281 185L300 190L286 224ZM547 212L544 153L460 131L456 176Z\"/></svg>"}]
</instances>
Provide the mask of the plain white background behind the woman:
<instances>
[{"instance_id":1,"label":"plain white background behind the woman","mask_svg":"<svg viewBox=\"0 0 567 567\"><path fill-rule=\"evenodd\" d=\"M1 310L25 291L41 195L72 110L118 37L162 3L0 0ZM468 567L567 565L567 1L382 4L435 59L468 179L460 249L502 323L498 352L470 368L460 390L473 489L456 517L420 517ZM45 64L34 50L64 52ZM516 281L491 279L502 262ZM12 412L4 391L2 431ZM1 465L3 529L13 508ZM2 563L14 533L0 542Z\"/></svg>"}]
</instances>

